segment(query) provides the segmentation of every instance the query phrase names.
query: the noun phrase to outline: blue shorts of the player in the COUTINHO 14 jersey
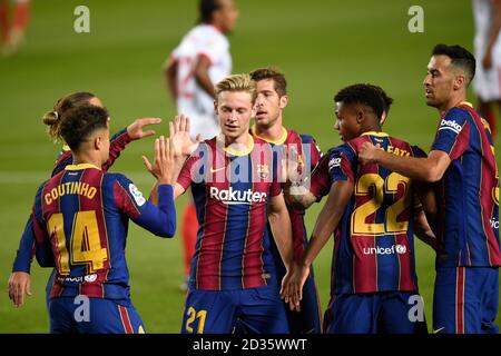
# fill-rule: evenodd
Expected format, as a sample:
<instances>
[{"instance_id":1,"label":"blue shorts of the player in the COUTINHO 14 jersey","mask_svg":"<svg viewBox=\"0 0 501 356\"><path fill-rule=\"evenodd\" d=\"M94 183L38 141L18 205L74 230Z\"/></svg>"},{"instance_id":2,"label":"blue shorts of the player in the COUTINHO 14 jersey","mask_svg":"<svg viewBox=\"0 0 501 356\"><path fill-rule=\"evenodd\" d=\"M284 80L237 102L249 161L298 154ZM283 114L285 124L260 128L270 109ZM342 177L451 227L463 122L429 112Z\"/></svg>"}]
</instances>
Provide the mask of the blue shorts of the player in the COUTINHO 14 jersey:
<instances>
[{"instance_id":1,"label":"blue shorts of the player in the COUTINHO 14 jersey","mask_svg":"<svg viewBox=\"0 0 501 356\"><path fill-rule=\"evenodd\" d=\"M81 298L81 296L79 296ZM144 334L130 300L53 298L49 305L52 334ZM86 301L88 300L88 301Z\"/></svg>"}]
</instances>

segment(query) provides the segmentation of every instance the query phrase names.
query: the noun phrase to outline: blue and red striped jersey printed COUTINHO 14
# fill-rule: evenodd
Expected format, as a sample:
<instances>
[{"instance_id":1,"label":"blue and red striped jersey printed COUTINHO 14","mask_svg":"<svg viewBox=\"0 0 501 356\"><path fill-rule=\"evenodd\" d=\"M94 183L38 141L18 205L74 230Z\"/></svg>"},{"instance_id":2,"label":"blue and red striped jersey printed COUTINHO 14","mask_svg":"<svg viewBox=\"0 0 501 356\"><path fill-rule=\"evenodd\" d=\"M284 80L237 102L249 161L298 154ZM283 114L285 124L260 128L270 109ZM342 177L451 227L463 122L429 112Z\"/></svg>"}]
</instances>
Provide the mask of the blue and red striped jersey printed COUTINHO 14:
<instances>
[{"instance_id":1,"label":"blue and red striped jersey printed COUTINHO 14","mask_svg":"<svg viewBox=\"0 0 501 356\"><path fill-rule=\"evenodd\" d=\"M173 187L160 185L158 207L120 174L70 165L43 182L33 205L33 231L50 246L57 275L50 297L129 298L125 248L128 220L171 237L176 230Z\"/></svg>"}]
</instances>

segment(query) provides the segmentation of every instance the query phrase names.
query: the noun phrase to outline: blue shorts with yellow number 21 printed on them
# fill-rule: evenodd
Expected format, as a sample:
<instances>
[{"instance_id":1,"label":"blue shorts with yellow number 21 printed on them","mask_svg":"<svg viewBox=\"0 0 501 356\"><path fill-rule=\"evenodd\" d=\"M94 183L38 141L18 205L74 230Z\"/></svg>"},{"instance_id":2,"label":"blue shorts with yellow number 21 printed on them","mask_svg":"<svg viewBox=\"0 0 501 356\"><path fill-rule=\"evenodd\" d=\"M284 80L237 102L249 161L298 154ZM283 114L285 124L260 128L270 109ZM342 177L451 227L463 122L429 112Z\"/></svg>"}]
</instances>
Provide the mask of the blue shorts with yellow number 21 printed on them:
<instances>
[{"instance_id":1,"label":"blue shorts with yellow number 21 printed on them","mask_svg":"<svg viewBox=\"0 0 501 356\"><path fill-rule=\"evenodd\" d=\"M190 289L181 334L287 334L284 303L275 285L238 290Z\"/></svg>"}]
</instances>

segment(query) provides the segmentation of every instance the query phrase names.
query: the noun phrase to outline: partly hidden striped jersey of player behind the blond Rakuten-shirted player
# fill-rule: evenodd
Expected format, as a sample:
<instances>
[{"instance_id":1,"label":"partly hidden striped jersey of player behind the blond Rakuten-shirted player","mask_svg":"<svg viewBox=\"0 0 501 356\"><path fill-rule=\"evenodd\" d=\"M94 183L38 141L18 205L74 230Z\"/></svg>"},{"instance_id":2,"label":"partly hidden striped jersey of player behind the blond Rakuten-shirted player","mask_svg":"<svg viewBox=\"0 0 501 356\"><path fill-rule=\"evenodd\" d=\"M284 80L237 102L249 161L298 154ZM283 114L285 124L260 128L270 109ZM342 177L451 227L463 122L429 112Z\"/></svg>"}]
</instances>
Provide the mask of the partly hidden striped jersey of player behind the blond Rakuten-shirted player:
<instances>
[{"instance_id":1,"label":"partly hidden striped jersey of player behind the blond Rakuten-shirted player","mask_svg":"<svg viewBox=\"0 0 501 356\"><path fill-rule=\"evenodd\" d=\"M311 171L317 165L318 160L322 157L322 150L316 145L315 139L308 135L299 135L292 129L283 129L283 136L277 141L269 141L264 138L262 140L272 145L272 147L283 146L285 150L295 149L297 152L297 164L298 170L305 176L310 177ZM252 132L255 137L256 134ZM284 155L285 150L275 149L274 152L278 155ZM281 158L281 157L277 157ZM275 161L279 161L276 159ZM305 170L305 171L304 171ZM303 255L303 251L306 249L308 243L308 236L306 233L306 227L304 225L304 209L294 208L292 205L287 205L288 216L291 218L292 225L292 234L293 234L293 243L294 243L294 258L298 260ZM268 224L268 233L271 236L272 229ZM272 245L274 240L272 239ZM282 263L282 258L276 248L273 249L274 258Z\"/></svg>"}]
</instances>

